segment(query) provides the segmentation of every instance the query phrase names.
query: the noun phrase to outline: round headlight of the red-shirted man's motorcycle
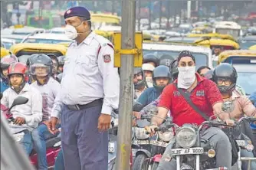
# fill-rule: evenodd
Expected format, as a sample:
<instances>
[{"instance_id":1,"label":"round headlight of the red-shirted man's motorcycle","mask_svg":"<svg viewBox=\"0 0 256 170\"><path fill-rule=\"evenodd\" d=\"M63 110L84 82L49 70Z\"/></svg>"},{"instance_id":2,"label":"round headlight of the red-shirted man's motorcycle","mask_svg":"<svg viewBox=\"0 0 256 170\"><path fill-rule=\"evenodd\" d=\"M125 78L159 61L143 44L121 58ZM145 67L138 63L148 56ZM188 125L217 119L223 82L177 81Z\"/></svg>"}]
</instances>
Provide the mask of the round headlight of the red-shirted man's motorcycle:
<instances>
[{"instance_id":1,"label":"round headlight of the red-shirted man's motorcycle","mask_svg":"<svg viewBox=\"0 0 256 170\"><path fill-rule=\"evenodd\" d=\"M181 127L177 129L176 142L182 148L191 148L196 142L195 129L191 127Z\"/></svg>"}]
</instances>

